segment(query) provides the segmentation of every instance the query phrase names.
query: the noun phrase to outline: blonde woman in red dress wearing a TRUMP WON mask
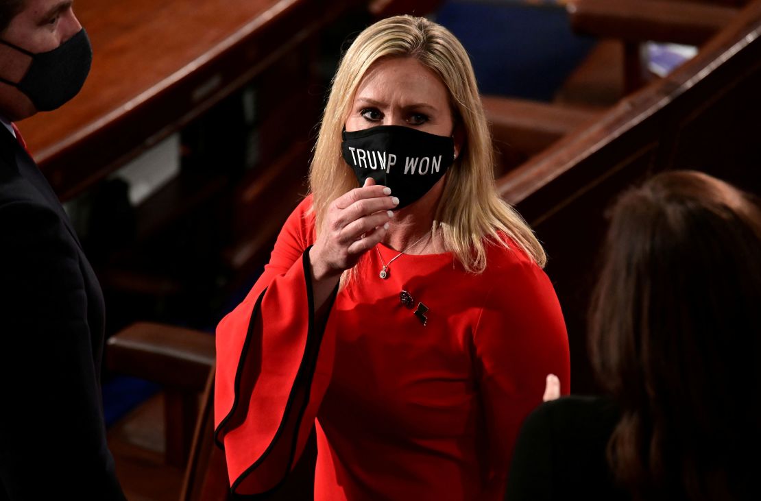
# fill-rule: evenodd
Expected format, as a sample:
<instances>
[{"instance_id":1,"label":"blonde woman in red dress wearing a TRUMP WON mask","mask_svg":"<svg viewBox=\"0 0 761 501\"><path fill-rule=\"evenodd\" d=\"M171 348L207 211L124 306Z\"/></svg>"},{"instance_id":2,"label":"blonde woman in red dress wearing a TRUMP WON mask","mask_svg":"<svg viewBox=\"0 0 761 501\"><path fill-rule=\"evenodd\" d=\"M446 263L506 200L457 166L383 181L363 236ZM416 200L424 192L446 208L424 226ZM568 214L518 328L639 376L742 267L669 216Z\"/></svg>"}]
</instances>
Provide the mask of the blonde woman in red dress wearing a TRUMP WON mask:
<instances>
[{"instance_id":1,"label":"blonde woman in red dress wearing a TRUMP WON mask","mask_svg":"<svg viewBox=\"0 0 761 501\"><path fill-rule=\"evenodd\" d=\"M451 33L403 16L358 36L310 187L218 326L232 490L276 487L317 426L315 499L498 499L544 376L568 392L568 339Z\"/></svg>"}]
</instances>

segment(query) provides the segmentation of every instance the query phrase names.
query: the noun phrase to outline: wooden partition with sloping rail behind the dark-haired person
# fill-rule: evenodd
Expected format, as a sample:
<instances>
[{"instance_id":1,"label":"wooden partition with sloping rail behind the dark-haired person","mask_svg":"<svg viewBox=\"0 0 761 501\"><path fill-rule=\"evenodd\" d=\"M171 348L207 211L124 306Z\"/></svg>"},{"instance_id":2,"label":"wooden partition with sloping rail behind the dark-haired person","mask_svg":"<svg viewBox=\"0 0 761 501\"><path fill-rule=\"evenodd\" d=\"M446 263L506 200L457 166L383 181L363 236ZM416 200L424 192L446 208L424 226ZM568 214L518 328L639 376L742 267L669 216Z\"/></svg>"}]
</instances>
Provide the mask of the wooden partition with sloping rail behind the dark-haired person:
<instances>
[{"instance_id":1,"label":"wooden partition with sloping rail behind the dark-haired person","mask_svg":"<svg viewBox=\"0 0 761 501\"><path fill-rule=\"evenodd\" d=\"M761 1L698 55L498 180L549 253L572 346L572 387L595 388L586 356L606 208L662 170L696 169L761 193Z\"/></svg>"}]
</instances>

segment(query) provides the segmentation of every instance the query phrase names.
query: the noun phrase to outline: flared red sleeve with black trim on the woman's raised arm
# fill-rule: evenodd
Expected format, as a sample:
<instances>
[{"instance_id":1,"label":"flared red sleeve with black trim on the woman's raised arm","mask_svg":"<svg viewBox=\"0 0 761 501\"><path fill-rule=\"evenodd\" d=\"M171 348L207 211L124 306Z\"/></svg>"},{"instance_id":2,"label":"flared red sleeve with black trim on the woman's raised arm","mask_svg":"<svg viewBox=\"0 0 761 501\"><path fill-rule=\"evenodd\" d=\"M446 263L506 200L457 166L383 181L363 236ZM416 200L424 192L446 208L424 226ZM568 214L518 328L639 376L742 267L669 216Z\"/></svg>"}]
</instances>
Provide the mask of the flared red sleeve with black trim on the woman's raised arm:
<instances>
[{"instance_id":1,"label":"flared red sleeve with black trim on the woman's raised arm","mask_svg":"<svg viewBox=\"0 0 761 501\"><path fill-rule=\"evenodd\" d=\"M291 214L264 273L217 327L215 441L234 493L282 482L330 382L335 344L314 316L310 205L307 197Z\"/></svg>"}]
</instances>

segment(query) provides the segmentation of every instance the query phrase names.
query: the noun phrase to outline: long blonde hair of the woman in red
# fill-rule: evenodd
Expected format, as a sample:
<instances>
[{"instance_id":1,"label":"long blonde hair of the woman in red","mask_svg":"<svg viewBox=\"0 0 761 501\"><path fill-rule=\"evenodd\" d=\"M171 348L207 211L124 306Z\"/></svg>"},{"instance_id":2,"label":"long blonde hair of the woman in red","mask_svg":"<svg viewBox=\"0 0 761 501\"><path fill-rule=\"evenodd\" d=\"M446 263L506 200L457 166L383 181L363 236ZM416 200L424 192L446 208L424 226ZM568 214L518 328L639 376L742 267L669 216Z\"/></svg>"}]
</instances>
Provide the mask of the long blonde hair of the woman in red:
<instances>
[{"instance_id":1,"label":"long blonde hair of the woman in red","mask_svg":"<svg viewBox=\"0 0 761 501\"><path fill-rule=\"evenodd\" d=\"M454 122L465 133L460 155L447 171L444 203L433 224L434 231L441 231L444 250L454 252L467 271L480 273L486 268L484 237L508 246L498 235L501 231L544 266L546 255L533 231L495 190L492 139L470 59L452 33L423 17L378 21L362 31L342 57L310 166L317 232L330 203L358 187L341 155L342 128L365 72L378 59L391 57L415 58L435 71L449 91Z\"/></svg>"}]
</instances>

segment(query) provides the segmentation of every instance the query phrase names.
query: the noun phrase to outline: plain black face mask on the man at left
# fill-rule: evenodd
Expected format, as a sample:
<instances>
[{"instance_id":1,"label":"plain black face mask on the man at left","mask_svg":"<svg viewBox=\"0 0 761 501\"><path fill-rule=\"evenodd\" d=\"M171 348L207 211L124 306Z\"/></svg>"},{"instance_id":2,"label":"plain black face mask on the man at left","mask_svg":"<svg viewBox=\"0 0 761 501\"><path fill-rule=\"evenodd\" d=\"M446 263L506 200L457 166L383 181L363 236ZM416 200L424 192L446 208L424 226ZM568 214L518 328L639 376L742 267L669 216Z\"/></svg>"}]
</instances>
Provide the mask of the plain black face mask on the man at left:
<instances>
[{"instance_id":1,"label":"plain black face mask on the man at left","mask_svg":"<svg viewBox=\"0 0 761 501\"><path fill-rule=\"evenodd\" d=\"M0 43L32 58L27 73L18 83L5 78L0 78L0 81L21 90L38 111L59 108L75 97L90 73L93 51L84 28L56 49L39 54L21 49L5 40L0 40Z\"/></svg>"}]
</instances>

